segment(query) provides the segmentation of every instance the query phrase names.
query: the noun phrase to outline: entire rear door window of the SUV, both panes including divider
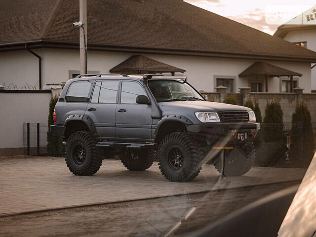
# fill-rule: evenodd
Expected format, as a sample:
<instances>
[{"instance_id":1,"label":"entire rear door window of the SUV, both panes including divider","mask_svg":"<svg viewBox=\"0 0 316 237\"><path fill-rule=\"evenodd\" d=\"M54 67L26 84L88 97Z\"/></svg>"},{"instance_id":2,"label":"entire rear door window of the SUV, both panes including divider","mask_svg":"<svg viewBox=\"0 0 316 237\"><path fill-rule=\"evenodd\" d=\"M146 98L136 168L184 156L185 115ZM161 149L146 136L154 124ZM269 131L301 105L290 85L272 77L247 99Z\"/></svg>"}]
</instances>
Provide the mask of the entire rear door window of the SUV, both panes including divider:
<instances>
[{"instance_id":1,"label":"entire rear door window of the SUV, both panes including divider","mask_svg":"<svg viewBox=\"0 0 316 237\"><path fill-rule=\"evenodd\" d=\"M117 94L118 81L97 81L91 103L117 103Z\"/></svg>"}]
</instances>

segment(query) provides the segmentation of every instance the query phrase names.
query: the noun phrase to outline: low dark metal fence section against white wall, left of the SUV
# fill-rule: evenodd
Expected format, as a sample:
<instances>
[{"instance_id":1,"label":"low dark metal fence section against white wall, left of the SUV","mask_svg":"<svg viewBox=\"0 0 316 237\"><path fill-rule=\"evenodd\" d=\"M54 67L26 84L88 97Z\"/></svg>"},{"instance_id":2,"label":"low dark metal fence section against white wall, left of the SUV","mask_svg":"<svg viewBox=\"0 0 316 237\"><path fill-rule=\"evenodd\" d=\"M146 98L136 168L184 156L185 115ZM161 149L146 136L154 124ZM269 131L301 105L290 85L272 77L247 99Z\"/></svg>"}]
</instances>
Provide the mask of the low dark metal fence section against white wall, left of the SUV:
<instances>
[{"instance_id":1,"label":"low dark metal fence section against white wall, left of the SUV","mask_svg":"<svg viewBox=\"0 0 316 237\"><path fill-rule=\"evenodd\" d=\"M46 154L47 131L47 123L23 123L23 145L26 155Z\"/></svg>"}]
</instances>

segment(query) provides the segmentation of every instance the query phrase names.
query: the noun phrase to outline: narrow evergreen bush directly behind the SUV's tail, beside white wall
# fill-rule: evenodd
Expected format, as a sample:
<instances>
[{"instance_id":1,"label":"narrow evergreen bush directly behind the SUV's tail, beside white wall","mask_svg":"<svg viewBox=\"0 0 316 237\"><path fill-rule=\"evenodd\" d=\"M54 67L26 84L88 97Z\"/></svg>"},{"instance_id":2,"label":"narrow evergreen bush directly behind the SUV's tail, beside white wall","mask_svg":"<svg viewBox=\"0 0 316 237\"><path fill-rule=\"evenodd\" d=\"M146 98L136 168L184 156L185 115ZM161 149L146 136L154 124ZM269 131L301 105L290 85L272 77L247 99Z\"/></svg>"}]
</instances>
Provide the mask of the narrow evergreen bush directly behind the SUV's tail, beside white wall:
<instances>
[{"instance_id":1,"label":"narrow evergreen bush directly behind the SUV's tail, beside white wall","mask_svg":"<svg viewBox=\"0 0 316 237\"><path fill-rule=\"evenodd\" d=\"M48 113L48 131L47 131L47 154L49 156L60 156L64 154L64 146L62 139L59 136L52 135L50 132L50 125L54 124L53 113L55 105L58 101L58 95L51 96L49 101L49 113Z\"/></svg>"}]
</instances>

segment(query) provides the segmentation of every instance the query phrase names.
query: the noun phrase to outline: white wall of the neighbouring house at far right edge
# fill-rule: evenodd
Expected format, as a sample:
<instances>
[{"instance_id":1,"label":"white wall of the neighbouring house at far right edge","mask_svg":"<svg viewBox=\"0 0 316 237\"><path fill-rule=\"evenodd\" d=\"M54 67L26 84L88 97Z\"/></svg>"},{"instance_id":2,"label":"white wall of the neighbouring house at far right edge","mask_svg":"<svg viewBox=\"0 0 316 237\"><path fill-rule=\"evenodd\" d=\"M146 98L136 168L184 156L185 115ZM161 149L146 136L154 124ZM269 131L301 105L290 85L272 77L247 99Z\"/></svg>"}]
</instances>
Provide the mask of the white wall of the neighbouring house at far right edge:
<instances>
[{"instance_id":1,"label":"white wall of the neighbouring house at far right edge","mask_svg":"<svg viewBox=\"0 0 316 237\"><path fill-rule=\"evenodd\" d=\"M316 30L292 31L289 32L284 40L289 42L307 42L307 48L316 51ZM314 65L314 64L312 64ZM316 90L316 67L312 69L312 89Z\"/></svg>"}]
</instances>

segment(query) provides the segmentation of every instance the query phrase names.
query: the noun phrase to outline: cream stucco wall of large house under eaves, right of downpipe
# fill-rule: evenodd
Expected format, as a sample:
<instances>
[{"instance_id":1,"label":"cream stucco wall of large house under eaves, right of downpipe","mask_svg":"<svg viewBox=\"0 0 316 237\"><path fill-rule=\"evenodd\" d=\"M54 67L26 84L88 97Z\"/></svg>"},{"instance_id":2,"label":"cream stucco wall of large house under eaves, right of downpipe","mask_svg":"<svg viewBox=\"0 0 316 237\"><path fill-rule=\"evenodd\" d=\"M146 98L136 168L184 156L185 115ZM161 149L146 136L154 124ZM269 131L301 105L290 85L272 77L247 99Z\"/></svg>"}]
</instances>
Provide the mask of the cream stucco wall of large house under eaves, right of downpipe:
<instances>
[{"instance_id":1,"label":"cream stucco wall of large house under eaves, right of downpipe","mask_svg":"<svg viewBox=\"0 0 316 237\"><path fill-rule=\"evenodd\" d=\"M135 53L89 51L88 70L109 73L109 70ZM238 74L257 60L230 59L198 56L142 54L152 59L186 70L188 81L198 90L214 91L214 76L235 76L235 92L239 87L249 86L249 79L239 79ZM79 70L79 51L65 49L45 49L43 60L43 84L58 83L69 78L69 70ZM267 61L276 66L303 74L299 85L305 93L311 92L311 69L309 63ZM255 78L250 79L256 80ZM261 80L264 81L262 78ZM269 92L279 92L279 79L269 79Z\"/></svg>"}]
</instances>

